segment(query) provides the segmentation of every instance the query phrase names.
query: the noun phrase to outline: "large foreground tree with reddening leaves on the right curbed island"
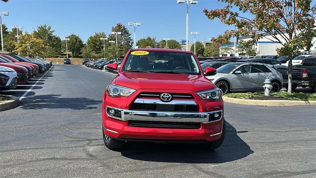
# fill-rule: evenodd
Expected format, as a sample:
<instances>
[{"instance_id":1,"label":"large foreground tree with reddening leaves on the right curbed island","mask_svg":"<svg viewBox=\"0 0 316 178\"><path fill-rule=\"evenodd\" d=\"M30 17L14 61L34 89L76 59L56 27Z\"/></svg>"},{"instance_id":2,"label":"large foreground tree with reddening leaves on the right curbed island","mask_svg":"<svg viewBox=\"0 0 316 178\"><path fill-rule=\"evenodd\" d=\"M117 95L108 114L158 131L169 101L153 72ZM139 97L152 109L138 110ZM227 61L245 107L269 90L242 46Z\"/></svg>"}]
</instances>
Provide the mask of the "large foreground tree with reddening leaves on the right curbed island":
<instances>
[{"instance_id":1,"label":"large foreground tree with reddening leaves on the right curbed island","mask_svg":"<svg viewBox=\"0 0 316 178\"><path fill-rule=\"evenodd\" d=\"M304 46L303 39L297 38L298 32L307 28L307 19L314 23L316 13L312 0L221 0L226 3L222 9L208 11L204 9L209 19L219 18L227 25L234 25L238 30L228 30L225 36L252 36L251 42L261 38L280 43L283 47L277 49L279 56L293 56ZM239 11L235 11L238 9ZM242 16L249 14L248 16ZM308 32L308 36L310 32ZM267 38L269 35L272 38ZM284 42L283 42L284 41ZM292 58L288 67L289 86L292 90Z\"/></svg>"}]
</instances>

